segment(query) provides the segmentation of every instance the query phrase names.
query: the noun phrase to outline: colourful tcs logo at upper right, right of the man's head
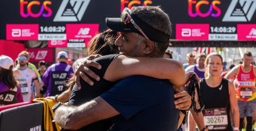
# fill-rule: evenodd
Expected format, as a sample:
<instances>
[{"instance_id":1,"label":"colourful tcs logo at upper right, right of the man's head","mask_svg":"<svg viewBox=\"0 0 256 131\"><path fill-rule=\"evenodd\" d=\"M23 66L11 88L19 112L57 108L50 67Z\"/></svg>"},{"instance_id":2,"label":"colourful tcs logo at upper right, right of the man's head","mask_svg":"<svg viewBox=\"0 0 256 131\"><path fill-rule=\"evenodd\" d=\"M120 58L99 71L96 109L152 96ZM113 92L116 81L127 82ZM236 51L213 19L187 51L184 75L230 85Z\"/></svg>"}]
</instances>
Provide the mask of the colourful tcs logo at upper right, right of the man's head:
<instances>
[{"instance_id":1,"label":"colourful tcs logo at upper right, right of the man's head","mask_svg":"<svg viewBox=\"0 0 256 131\"><path fill-rule=\"evenodd\" d=\"M193 4L195 4L195 13L192 12L192 8L193 8ZM200 17L207 17L209 15L211 15L212 17L219 17L221 15L221 9L219 7L217 7L217 4L221 4L221 1L219 0L214 0L211 2L210 4L210 8L206 13L201 13L200 12L200 6L201 5L209 5L209 1L207 0L200 0L200 1L195 1L195 0L188 0L188 14L191 17L196 17L197 15ZM212 10L216 10L217 13L211 13Z\"/></svg>"}]
</instances>

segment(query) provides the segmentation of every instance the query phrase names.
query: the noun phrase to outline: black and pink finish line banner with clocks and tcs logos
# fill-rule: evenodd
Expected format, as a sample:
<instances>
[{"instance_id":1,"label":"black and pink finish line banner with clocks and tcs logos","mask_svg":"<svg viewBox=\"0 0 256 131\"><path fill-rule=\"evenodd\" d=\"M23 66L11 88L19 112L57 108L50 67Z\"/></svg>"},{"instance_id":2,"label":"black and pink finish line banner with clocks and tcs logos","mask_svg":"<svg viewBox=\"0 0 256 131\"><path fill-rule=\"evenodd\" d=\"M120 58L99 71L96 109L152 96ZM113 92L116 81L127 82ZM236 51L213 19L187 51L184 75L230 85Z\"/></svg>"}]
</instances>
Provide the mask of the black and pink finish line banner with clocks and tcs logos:
<instances>
[{"instance_id":1,"label":"black and pink finish line banner with clocks and tcs logos","mask_svg":"<svg viewBox=\"0 0 256 131\"><path fill-rule=\"evenodd\" d=\"M256 0L14 0L1 5L0 39L47 40L49 47L86 46L88 36L107 29L106 17L120 17L125 7L158 5L170 17L171 39L256 40ZM69 29L76 33L73 38Z\"/></svg>"}]
</instances>

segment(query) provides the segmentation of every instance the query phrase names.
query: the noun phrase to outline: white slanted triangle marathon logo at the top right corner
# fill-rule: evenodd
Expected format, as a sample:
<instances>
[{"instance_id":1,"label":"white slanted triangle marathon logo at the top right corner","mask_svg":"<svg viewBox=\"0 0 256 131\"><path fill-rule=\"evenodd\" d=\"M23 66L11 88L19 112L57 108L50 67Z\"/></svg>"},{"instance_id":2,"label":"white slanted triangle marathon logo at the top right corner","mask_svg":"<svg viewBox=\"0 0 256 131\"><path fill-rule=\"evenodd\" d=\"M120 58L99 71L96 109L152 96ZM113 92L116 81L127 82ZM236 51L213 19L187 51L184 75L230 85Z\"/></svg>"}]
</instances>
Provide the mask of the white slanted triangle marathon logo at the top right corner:
<instances>
[{"instance_id":1,"label":"white slanted triangle marathon logo at the top right corner","mask_svg":"<svg viewBox=\"0 0 256 131\"><path fill-rule=\"evenodd\" d=\"M239 8L237 4L240 4L242 9ZM256 9L256 0L232 0L222 21L232 21L232 22L250 21L255 12L255 9Z\"/></svg>"}]
</instances>

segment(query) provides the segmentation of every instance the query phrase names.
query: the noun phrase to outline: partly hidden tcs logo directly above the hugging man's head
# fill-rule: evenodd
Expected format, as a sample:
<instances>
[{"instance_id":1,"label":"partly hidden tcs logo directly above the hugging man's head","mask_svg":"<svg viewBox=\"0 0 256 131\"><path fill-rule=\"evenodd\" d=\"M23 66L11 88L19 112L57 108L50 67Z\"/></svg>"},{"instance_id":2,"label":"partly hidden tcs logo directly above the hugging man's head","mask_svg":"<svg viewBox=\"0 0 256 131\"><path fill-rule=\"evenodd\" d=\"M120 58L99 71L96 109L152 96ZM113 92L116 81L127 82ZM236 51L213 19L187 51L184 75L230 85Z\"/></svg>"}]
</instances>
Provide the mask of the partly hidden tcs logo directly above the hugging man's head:
<instances>
[{"instance_id":1,"label":"partly hidden tcs logo directly above the hugging man's head","mask_svg":"<svg viewBox=\"0 0 256 131\"><path fill-rule=\"evenodd\" d=\"M133 7L134 4L138 4L142 6L147 6L148 4L152 4L151 0L145 0L143 3L141 2L141 0L132 0L131 2L129 0L121 0L121 13L125 7L125 4L128 4L128 8L131 9Z\"/></svg>"}]
</instances>

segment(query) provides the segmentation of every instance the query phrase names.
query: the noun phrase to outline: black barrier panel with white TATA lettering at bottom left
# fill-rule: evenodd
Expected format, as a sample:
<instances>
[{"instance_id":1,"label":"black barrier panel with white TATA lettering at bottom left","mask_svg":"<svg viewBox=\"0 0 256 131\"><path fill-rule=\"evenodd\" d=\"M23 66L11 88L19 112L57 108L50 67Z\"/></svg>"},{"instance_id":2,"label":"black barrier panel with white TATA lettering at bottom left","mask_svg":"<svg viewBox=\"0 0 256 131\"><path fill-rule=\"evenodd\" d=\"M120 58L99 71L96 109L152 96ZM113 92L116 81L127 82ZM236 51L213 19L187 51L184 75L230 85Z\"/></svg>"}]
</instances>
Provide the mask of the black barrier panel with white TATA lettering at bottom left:
<instances>
[{"instance_id":1,"label":"black barrier panel with white TATA lettering at bottom left","mask_svg":"<svg viewBox=\"0 0 256 131\"><path fill-rule=\"evenodd\" d=\"M44 104L41 102L0 112L1 131L43 131Z\"/></svg>"}]
</instances>

